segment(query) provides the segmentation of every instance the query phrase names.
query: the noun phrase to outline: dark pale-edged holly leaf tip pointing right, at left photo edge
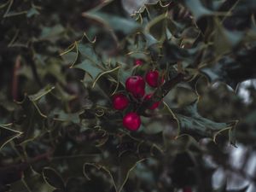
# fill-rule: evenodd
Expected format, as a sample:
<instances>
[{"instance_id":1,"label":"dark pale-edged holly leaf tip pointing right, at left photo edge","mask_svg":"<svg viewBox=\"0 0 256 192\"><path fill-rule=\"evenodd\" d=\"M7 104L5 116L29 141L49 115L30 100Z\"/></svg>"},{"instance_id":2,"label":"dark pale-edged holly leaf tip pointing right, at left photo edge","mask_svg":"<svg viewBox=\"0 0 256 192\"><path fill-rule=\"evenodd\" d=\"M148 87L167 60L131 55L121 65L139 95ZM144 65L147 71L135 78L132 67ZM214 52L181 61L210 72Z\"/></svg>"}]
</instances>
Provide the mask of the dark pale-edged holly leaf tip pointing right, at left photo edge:
<instances>
[{"instance_id":1,"label":"dark pale-edged holly leaf tip pointing right, at left photo edge","mask_svg":"<svg viewBox=\"0 0 256 192\"><path fill-rule=\"evenodd\" d=\"M10 125L0 125L0 150L4 145L15 139L16 137L20 137L22 132L15 131L9 128Z\"/></svg>"}]
</instances>

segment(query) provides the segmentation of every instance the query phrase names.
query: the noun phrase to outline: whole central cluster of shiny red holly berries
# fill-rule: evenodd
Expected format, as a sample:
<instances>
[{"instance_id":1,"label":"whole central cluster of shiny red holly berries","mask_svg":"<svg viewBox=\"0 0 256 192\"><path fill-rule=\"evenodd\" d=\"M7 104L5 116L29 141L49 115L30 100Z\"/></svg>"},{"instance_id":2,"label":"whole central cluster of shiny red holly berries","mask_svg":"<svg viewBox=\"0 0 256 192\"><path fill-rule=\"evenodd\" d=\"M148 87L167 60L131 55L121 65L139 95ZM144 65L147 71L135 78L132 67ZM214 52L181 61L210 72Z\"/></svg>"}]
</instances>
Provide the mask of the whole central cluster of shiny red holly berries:
<instances>
[{"instance_id":1,"label":"whole central cluster of shiny red holly berries","mask_svg":"<svg viewBox=\"0 0 256 192\"><path fill-rule=\"evenodd\" d=\"M141 60L136 60L135 65L142 65ZM146 83L153 88L158 87L163 79L160 79L160 73L157 70L150 70L145 75L145 79L142 76L136 75L131 76L125 81L125 89L130 94L130 96L136 100L147 101L153 96L153 93L150 93L145 96L145 87ZM113 96L113 108L117 110L124 110L128 107L130 103L128 96L125 96L123 93L115 94ZM158 108L160 102L154 102L149 109L154 110ZM141 125L141 118L136 112L126 113L123 118L123 125L126 129L130 131L137 131Z\"/></svg>"}]
</instances>

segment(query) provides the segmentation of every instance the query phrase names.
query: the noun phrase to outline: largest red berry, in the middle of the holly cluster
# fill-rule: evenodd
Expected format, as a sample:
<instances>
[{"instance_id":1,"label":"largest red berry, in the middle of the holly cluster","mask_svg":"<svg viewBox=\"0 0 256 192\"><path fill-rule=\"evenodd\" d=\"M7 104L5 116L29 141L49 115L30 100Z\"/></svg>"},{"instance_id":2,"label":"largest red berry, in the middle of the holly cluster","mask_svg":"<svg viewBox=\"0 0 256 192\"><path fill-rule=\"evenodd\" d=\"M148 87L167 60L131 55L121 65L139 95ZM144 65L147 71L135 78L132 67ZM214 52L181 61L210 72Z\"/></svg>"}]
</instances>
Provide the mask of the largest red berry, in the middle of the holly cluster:
<instances>
[{"instance_id":1,"label":"largest red berry, in the middle of the holly cluster","mask_svg":"<svg viewBox=\"0 0 256 192\"><path fill-rule=\"evenodd\" d=\"M125 88L127 91L136 97L143 97L145 95L145 81L141 76L131 76L126 79Z\"/></svg>"}]
</instances>

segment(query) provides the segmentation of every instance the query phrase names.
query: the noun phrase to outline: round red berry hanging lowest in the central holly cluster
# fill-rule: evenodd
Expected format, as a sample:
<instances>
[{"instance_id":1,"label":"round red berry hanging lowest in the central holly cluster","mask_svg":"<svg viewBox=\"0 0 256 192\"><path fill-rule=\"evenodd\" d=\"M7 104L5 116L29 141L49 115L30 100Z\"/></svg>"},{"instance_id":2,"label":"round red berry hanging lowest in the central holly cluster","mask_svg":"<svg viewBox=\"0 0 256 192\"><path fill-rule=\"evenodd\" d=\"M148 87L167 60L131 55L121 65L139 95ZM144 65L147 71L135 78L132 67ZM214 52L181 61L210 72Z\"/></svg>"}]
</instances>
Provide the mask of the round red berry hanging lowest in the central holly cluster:
<instances>
[{"instance_id":1,"label":"round red berry hanging lowest in the central holly cluster","mask_svg":"<svg viewBox=\"0 0 256 192\"><path fill-rule=\"evenodd\" d=\"M123 125L130 131L137 131L141 123L140 116L135 112L127 113L123 118Z\"/></svg>"}]
</instances>

